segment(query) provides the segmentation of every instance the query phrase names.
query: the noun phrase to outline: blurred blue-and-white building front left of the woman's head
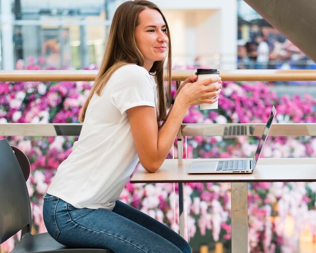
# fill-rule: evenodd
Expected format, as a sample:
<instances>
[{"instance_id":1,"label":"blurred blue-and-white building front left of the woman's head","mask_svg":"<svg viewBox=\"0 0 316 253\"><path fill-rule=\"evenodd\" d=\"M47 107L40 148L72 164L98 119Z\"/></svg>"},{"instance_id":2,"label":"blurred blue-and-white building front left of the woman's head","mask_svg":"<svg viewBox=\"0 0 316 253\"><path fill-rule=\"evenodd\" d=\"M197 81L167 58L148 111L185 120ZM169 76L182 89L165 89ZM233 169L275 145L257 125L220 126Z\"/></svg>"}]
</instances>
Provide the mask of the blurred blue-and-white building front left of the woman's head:
<instances>
[{"instance_id":1,"label":"blurred blue-and-white building front left of the woman's head","mask_svg":"<svg viewBox=\"0 0 316 253\"><path fill-rule=\"evenodd\" d=\"M1 66L41 57L44 67L99 64L119 2L1 0Z\"/></svg>"}]
</instances>

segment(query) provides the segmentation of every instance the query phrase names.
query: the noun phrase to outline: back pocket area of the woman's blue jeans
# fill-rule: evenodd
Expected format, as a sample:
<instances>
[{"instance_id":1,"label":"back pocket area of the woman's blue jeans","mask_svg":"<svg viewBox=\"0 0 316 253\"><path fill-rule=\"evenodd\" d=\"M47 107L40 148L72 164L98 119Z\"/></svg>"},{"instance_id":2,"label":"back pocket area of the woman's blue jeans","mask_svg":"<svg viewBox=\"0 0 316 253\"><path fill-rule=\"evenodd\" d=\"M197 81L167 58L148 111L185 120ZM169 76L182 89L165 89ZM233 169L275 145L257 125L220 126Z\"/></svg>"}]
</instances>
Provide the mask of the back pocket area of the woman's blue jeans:
<instances>
[{"instance_id":1,"label":"back pocket area of the woman's blue jeans","mask_svg":"<svg viewBox=\"0 0 316 253\"><path fill-rule=\"evenodd\" d=\"M44 204L43 204L44 223L45 223L48 234L55 240L57 240L60 234L60 230L56 222L56 209L57 209L57 205L59 201L60 199L55 196L47 197L46 195L44 197Z\"/></svg>"}]
</instances>

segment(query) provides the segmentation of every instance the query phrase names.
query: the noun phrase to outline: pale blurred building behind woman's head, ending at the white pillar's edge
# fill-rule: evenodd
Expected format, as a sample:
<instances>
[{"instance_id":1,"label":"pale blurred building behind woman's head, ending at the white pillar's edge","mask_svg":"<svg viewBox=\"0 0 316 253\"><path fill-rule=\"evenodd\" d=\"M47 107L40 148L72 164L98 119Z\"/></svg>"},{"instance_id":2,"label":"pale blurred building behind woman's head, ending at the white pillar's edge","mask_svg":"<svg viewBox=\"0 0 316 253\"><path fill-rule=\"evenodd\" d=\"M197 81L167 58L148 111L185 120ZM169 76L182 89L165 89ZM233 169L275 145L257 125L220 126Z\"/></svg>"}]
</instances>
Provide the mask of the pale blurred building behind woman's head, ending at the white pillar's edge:
<instances>
[{"instance_id":1,"label":"pale blurred building behind woman's head, ending at the white pillar's edge","mask_svg":"<svg viewBox=\"0 0 316 253\"><path fill-rule=\"evenodd\" d=\"M122 2L0 0L1 68L14 69L18 59L28 57L40 57L43 67L99 65L113 14ZM171 27L175 67L236 68L236 1L154 2Z\"/></svg>"}]
</instances>

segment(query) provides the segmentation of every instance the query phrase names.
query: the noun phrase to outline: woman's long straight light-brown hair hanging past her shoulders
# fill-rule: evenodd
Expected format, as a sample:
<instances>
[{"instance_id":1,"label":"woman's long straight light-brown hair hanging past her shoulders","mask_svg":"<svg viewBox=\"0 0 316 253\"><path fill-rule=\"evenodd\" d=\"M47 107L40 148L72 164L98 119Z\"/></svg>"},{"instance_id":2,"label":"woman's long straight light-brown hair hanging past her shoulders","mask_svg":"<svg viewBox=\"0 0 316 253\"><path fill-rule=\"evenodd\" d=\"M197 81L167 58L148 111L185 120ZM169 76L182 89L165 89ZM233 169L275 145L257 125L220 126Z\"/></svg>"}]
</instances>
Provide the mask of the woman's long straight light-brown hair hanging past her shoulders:
<instances>
[{"instance_id":1,"label":"woman's long straight light-brown hair hanging past her shoulders","mask_svg":"<svg viewBox=\"0 0 316 253\"><path fill-rule=\"evenodd\" d=\"M139 13L146 9L153 9L158 11L166 24L167 35L169 38L168 56L167 56L167 81L168 81L168 96L170 97L171 91L171 38L169 27L166 18L162 11L153 3L144 0L128 1L119 6L116 10L110 33L106 51L102 59L100 70L95 78L94 86L84 103L80 114L79 121L83 122L88 104L96 93L100 96L102 89L106 85L111 75L120 67L126 64L136 64L138 66L144 65L144 57L137 47L135 40L135 28L139 23ZM159 116L157 120L166 120L167 118L167 105L166 96L164 91L164 60L156 61L152 65L149 73L155 77L157 83L157 96Z\"/></svg>"}]
</instances>

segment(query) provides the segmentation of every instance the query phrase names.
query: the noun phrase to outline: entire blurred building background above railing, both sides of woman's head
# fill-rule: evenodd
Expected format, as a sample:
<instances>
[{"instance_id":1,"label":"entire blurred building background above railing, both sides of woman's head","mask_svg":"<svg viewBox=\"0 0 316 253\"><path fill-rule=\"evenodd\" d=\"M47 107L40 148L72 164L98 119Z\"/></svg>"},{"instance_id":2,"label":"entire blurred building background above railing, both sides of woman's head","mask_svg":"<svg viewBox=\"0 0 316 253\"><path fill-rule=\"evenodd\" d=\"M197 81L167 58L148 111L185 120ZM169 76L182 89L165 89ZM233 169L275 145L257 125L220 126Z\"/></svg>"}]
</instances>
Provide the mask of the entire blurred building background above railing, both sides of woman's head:
<instances>
[{"instance_id":1,"label":"entire blurred building background above railing, both sides of woman's head","mask_svg":"<svg viewBox=\"0 0 316 253\"><path fill-rule=\"evenodd\" d=\"M123 0L0 0L1 69L18 59L44 68L100 65L112 17ZM174 68L315 68L242 0L154 0L170 25Z\"/></svg>"}]
</instances>

